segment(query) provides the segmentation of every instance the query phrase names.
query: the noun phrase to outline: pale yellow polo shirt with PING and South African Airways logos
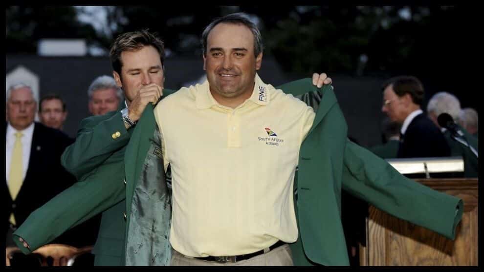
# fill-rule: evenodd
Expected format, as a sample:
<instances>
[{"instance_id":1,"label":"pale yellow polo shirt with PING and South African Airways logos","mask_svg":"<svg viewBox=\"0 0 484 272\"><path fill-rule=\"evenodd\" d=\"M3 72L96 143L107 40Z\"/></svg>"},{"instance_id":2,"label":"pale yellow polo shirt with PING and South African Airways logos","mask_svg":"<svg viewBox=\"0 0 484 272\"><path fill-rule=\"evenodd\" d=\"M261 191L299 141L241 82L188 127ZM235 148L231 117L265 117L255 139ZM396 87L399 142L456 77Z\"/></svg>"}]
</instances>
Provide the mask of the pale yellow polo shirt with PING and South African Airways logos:
<instances>
[{"instance_id":1,"label":"pale yellow polo shirt with PING and South African Airways logos","mask_svg":"<svg viewBox=\"0 0 484 272\"><path fill-rule=\"evenodd\" d=\"M256 75L232 109L206 81L161 100L154 116L172 169L172 247L187 256L240 255L298 236L293 180L314 111Z\"/></svg>"}]
</instances>

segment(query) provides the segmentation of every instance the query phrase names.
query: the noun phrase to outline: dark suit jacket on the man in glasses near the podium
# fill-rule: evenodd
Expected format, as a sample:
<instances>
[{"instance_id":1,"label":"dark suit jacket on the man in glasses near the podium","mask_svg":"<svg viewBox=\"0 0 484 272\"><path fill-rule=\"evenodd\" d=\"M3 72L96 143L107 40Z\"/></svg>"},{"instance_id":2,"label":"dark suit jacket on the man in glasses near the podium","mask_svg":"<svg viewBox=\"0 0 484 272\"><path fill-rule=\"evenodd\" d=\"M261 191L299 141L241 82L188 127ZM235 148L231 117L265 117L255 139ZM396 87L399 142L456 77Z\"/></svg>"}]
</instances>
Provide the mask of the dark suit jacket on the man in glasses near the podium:
<instances>
[{"instance_id":1,"label":"dark suit jacket on the man in glasses near the podium","mask_svg":"<svg viewBox=\"0 0 484 272\"><path fill-rule=\"evenodd\" d=\"M417 115L400 138L398 158L448 157L450 148L440 129L424 114Z\"/></svg>"}]
</instances>

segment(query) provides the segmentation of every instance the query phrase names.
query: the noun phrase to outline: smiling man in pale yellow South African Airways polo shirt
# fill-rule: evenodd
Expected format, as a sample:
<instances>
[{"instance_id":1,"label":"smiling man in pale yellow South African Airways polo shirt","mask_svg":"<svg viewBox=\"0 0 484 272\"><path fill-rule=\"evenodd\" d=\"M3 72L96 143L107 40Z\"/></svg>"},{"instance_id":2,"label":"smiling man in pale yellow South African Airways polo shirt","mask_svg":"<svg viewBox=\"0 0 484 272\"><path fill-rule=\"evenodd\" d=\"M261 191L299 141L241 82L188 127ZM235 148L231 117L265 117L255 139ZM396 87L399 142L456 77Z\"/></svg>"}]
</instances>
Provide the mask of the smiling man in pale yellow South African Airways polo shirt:
<instances>
[{"instance_id":1,"label":"smiling man in pale yellow South African Airways polo shirt","mask_svg":"<svg viewBox=\"0 0 484 272\"><path fill-rule=\"evenodd\" d=\"M220 256L292 265L292 180L314 111L264 84L256 74L259 31L230 18L237 22L203 33L208 81L167 96L154 111L165 170L172 167L171 265L217 265Z\"/></svg>"}]
</instances>

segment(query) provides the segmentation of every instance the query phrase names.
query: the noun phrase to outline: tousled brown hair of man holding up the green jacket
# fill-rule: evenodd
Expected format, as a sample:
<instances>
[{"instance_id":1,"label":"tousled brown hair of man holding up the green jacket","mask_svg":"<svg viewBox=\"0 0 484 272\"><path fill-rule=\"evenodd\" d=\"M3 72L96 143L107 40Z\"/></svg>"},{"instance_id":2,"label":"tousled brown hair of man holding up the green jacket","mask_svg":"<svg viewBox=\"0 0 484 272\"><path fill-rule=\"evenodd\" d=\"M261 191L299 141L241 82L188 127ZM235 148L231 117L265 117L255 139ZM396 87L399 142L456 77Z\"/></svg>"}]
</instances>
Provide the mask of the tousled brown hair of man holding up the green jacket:
<instances>
[{"instance_id":1,"label":"tousled brown hair of man holding up the green jacket","mask_svg":"<svg viewBox=\"0 0 484 272\"><path fill-rule=\"evenodd\" d=\"M111 45L109 52L112 70L121 76L121 67L123 67L121 53L124 51L135 51L144 46L150 45L156 48L160 54L161 65L163 65L165 59L165 45L156 33L150 33L148 29L143 29L119 35Z\"/></svg>"}]
</instances>

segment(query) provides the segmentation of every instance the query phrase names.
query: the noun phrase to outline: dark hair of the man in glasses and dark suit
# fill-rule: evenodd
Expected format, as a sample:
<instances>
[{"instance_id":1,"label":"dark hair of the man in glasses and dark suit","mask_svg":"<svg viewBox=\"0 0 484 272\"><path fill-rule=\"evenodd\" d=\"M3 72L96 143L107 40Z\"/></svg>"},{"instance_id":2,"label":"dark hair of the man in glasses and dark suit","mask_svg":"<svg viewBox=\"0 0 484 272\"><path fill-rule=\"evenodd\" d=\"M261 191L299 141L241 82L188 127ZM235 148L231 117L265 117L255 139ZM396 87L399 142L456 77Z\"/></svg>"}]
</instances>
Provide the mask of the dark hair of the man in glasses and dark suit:
<instances>
[{"instance_id":1,"label":"dark hair of the man in glasses and dark suit","mask_svg":"<svg viewBox=\"0 0 484 272\"><path fill-rule=\"evenodd\" d=\"M392 88L398 97L402 97L408 93L415 104L422 105L424 91L423 85L418 78L414 76L398 76L391 78L382 85L382 91L384 91L389 85L392 85Z\"/></svg>"}]
</instances>

